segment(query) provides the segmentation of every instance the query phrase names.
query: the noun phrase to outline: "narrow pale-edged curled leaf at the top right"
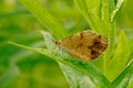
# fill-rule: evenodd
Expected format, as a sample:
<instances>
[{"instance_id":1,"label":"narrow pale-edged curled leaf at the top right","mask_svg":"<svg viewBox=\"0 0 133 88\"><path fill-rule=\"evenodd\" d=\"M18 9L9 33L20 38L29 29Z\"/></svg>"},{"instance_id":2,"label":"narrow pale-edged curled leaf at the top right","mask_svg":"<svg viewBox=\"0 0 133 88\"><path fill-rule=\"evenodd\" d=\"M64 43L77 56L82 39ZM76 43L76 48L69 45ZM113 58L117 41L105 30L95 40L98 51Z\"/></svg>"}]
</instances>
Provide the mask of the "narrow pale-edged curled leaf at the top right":
<instances>
[{"instance_id":1,"label":"narrow pale-edged curled leaf at the top right","mask_svg":"<svg viewBox=\"0 0 133 88\"><path fill-rule=\"evenodd\" d=\"M116 13L120 11L123 2L124 2L124 0L117 0L117 3L116 3L116 6L115 6L114 10L113 10L112 13L111 13L111 22L114 21L115 15L116 15Z\"/></svg>"}]
</instances>

